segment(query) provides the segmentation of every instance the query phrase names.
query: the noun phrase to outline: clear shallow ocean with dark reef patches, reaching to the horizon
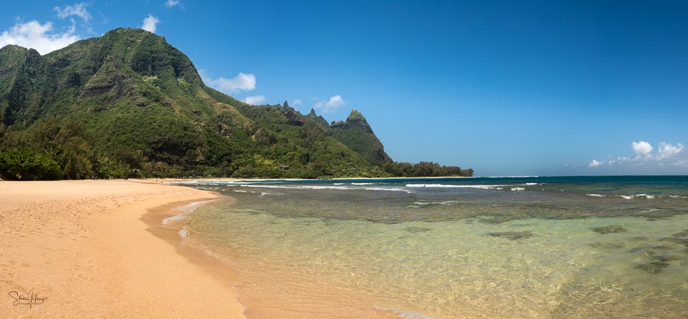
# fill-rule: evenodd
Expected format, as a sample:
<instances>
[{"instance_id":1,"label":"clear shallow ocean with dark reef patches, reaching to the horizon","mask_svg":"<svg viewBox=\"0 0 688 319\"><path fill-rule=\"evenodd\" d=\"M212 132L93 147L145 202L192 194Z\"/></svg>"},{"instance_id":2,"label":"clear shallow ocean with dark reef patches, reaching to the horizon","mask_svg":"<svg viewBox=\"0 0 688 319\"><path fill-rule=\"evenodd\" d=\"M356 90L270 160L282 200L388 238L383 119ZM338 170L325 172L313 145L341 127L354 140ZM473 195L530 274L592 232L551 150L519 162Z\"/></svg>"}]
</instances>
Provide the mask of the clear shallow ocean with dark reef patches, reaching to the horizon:
<instances>
[{"instance_id":1,"label":"clear shallow ocean with dark reef patches, reaching to the horizon","mask_svg":"<svg viewBox=\"0 0 688 319\"><path fill-rule=\"evenodd\" d=\"M232 198L166 223L237 272L254 314L688 317L686 176L181 184Z\"/></svg>"}]
</instances>

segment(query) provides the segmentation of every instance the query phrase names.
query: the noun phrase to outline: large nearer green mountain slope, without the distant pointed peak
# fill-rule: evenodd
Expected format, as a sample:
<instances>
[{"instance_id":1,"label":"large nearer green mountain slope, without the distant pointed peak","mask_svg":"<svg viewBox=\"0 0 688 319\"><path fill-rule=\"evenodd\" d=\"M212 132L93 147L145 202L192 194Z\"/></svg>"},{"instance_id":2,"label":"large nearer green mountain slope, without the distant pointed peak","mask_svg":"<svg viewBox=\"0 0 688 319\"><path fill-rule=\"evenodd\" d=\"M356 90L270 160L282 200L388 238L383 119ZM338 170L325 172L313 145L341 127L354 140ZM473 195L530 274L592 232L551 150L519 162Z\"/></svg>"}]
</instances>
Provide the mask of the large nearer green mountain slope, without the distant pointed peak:
<instances>
[{"instance_id":1,"label":"large nearer green mountain slope, without the distant pointed peak","mask_svg":"<svg viewBox=\"0 0 688 319\"><path fill-rule=\"evenodd\" d=\"M0 76L2 122L10 131L31 134L50 116L85 122L94 151L114 162L138 153L129 168L147 174L372 170L294 109L253 107L206 87L188 57L143 30L112 30L45 56L4 47Z\"/></svg>"}]
</instances>

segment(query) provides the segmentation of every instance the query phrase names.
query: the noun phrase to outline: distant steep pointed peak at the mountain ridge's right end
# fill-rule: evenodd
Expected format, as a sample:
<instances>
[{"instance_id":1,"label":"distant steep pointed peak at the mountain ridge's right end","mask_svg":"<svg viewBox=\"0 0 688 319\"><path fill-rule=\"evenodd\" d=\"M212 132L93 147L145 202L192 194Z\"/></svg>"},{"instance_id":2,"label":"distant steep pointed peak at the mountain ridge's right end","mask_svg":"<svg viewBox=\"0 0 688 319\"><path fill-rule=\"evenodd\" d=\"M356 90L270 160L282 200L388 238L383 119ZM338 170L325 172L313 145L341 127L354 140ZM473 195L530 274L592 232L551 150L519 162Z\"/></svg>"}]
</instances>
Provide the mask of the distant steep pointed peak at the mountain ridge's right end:
<instances>
[{"instance_id":1,"label":"distant steep pointed peak at the mountain ridge's right end","mask_svg":"<svg viewBox=\"0 0 688 319\"><path fill-rule=\"evenodd\" d=\"M324 119L323 119L324 120ZM383 144L361 112L352 110L346 121L332 122L330 136L351 148L373 165L391 163Z\"/></svg>"}]
</instances>

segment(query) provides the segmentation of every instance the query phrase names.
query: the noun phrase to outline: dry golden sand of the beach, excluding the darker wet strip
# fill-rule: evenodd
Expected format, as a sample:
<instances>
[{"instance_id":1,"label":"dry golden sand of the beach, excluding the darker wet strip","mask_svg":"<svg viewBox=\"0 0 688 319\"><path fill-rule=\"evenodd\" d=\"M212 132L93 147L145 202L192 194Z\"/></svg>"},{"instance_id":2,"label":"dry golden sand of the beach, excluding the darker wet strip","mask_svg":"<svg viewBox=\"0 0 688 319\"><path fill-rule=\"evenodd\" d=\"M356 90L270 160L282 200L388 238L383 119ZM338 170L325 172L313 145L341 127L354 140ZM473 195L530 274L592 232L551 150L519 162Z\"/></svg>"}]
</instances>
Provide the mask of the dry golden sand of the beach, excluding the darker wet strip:
<instances>
[{"instance_id":1,"label":"dry golden sand of the beach, excluding the darker wet strip","mask_svg":"<svg viewBox=\"0 0 688 319\"><path fill-rule=\"evenodd\" d=\"M0 318L244 318L227 270L142 218L215 197L152 180L0 182Z\"/></svg>"}]
</instances>

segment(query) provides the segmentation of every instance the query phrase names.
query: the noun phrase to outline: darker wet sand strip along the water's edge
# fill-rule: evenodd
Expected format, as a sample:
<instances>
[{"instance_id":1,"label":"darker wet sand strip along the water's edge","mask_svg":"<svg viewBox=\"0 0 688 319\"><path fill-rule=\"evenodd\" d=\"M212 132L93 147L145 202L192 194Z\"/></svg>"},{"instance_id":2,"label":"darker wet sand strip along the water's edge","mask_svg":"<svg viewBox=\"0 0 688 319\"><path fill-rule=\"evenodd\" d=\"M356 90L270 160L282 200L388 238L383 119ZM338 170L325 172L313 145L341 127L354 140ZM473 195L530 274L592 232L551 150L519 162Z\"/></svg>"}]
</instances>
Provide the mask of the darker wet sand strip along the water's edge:
<instances>
[{"instance_id":1,"label":"darker wet sand strip along the water's edge","mask_svg":"<svg viewBox=\"0 0 688 319\"><path fill-rule=\"evenodd\" d=\"M211 191L212 192L212 191ZM216 193L219 197L203 206L233 203L233 197ZM195 241L193 232L182 237L184 229L178 223L164 224L170 217L193 214L175 212L175 208L199 203L206 199L168 203L149 210L142 220L149 232L175 247L178 254L224 283L232 283L237 303L244 307L244 318L405 318L404 310L381 307L376 296L369 296L344 287L332 285L322 278L313 278L302 269L281 263L266 263L260 258L217 254L215 247ZM189 238L189 240L187 240ZM259 256L258 256L259 257ZM235 270L235 266L239 269ZM294 277L303 281L294 282ZM430 317L422 317L430 318Z\"/></svg>"}]
</instances>

